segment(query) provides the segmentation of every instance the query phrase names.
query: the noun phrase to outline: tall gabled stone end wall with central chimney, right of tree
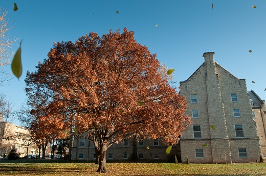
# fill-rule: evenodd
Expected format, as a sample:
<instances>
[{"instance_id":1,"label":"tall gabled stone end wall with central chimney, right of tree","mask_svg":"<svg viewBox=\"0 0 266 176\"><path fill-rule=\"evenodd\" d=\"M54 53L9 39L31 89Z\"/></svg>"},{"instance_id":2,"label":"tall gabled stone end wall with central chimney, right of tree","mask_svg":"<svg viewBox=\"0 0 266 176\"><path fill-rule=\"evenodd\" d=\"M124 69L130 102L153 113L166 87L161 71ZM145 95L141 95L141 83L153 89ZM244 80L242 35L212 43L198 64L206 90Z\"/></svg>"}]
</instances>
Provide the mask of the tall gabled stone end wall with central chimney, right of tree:
<instances>
[{"instance_id":1,"label":"tall gabled stone end wall with central chimney, right of tree","mask_svg":"<svg viewBox=\"0 0 266 176\"><path fill-rule=\"evenodd\" d=\"M180 141L182 162L254 162L261 155L260 141L245 79L238 79L204 53L205 62L184 82L186 114L192 124ZM264 135L263 135L264 136Z\"/></svg>"}]
</instances>

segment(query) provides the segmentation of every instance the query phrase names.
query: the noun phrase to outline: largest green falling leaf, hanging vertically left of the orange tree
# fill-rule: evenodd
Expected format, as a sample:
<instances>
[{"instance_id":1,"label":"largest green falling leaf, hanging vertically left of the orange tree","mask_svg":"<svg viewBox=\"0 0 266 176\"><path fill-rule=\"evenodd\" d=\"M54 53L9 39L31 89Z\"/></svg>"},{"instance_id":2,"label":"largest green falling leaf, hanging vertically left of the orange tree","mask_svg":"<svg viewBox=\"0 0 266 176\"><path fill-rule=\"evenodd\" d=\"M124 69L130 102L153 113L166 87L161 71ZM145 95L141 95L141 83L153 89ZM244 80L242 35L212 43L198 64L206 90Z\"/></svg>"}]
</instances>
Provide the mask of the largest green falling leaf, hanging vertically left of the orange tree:
<instances>
[{"instance_id":1,"label":"largest green falling leaf, hanging vertically left of the orange tree","mask_svg":"<svg viewBox=\"0 0 266 176\"><path fill-rule=\"evenodd\" d=\"M19 43L19 48L17 49L16 54L14 55L13 61L11 63L12 72L17 77L17 79L19 79L22 74L21 42Z\"/></svg>"}]
</instances>

